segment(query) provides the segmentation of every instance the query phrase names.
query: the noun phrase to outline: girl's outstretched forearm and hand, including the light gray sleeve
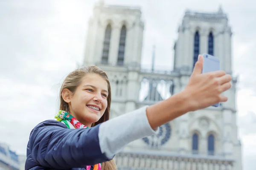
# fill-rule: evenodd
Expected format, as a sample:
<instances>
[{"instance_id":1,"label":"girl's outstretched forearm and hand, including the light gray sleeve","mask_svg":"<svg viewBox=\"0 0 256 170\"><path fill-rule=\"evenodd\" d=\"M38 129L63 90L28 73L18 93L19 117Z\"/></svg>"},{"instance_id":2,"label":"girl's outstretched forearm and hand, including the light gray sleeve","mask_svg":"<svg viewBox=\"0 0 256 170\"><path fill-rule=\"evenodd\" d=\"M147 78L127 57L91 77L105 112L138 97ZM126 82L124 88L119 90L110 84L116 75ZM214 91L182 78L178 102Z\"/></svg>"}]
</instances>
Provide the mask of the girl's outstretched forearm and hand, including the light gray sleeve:
<instances>
[{"instance_id":1,"label":"girl's outstretched forearm and hand, including the light gray sleeve","mask_svg":"<svg viewBox=\"0 0 256 170\"><path fill-rule=\"evenodd\" d=\"M129 142L154 134L159 126L178 116L227 101L221 93L231 87L231 76L224 71L201 74L202 66L200 58L184 91L102 123L99 127L102 153L111 157Z\"/></svg>"}]
</instances>

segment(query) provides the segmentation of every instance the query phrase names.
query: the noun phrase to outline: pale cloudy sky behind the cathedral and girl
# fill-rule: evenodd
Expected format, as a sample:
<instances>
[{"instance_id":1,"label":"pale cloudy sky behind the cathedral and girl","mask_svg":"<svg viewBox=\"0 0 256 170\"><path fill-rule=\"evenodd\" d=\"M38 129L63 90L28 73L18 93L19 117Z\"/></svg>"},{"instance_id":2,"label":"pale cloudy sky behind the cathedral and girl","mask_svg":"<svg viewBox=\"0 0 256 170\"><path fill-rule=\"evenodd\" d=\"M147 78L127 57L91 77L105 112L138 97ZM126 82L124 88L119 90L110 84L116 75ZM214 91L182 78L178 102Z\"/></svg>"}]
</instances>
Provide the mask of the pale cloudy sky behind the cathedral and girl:
<instances>
[{"instance_id":1,"label":"pale cloudy sky behind the cathedral and girl","mask_svg":"<svg viewBox=\"0 0 256 170\"><path fill-rule=\"evenodd\" d=\"M61 80L83 62L87 21L96 0L0 0L0 142L26 154L32 128L52 119ZM233 28L233 70L239 75L237 118L244 170L256 167L256 1L105 0L141 6L143 65L172 68L177 26L184 11L214 12L221 4ZM148 61L146 61L149 59ZM164 62L163 62L164 61Z\"/></svg>"}]
</instances>

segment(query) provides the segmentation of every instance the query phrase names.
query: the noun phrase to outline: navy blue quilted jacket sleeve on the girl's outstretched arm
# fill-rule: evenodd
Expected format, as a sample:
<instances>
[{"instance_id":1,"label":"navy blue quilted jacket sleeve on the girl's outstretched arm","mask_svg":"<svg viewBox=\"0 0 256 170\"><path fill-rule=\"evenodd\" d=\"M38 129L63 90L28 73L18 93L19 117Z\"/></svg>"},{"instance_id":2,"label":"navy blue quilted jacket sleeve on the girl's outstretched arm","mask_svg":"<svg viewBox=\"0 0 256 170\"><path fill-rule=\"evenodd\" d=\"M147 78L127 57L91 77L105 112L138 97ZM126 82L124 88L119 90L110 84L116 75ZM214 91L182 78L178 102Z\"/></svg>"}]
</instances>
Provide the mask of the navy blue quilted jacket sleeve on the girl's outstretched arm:
<instances>
[{"instance_id":1,"label":"navy blue quilted jacket sleeve on the girl's outstretched arm","mask_svg":"<svg viewBox=\"0 0 256 170\"><path fill-rule=\"evenodd\" d=\"M98 133L99 125L68 129L61 122L48 120L32 130L28 150L32 160L43 167L85 167L109 160L101 152Z\"/></svg>"}]
</instances>

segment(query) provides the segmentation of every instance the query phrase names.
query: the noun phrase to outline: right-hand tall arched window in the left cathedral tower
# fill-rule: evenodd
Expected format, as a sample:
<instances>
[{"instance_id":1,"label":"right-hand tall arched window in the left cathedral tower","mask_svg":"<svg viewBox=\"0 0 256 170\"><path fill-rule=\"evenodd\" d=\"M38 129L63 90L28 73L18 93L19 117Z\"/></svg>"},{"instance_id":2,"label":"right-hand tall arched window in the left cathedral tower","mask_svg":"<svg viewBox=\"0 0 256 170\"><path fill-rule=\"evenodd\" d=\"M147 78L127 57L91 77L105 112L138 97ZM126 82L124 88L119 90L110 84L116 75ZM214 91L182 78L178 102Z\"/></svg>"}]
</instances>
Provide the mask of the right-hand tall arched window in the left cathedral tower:
<instances>
[{"instance_id":1,"label":"right-hand tall arched window in the left cathedral tower","mask_svg":"<svg viewBox=\"0 0 256 170\"><path fill-rule=\"evenodd\" d=\"M126 27L122 26L121 33L120 33L120 40L119 40L117 65L123 65L124 64L125 39L126 39Z\"/></svg>"}]
</instances>

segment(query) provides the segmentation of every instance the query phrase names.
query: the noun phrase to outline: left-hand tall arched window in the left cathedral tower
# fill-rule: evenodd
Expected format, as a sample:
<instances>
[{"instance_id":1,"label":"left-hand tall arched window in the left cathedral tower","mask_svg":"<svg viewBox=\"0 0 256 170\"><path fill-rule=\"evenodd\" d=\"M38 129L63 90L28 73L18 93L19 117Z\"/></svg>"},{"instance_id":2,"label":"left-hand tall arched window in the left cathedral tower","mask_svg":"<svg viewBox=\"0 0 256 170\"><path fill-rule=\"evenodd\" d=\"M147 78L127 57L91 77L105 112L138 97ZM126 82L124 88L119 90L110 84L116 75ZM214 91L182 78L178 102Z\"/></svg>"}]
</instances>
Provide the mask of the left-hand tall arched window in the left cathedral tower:
<instances>
[{"instance_id":1,"label":"left-hand tall arched window in the left cathedral tower","mask_svg":"<svg viewBox=\"0 0 256 170\"><path fill-rule=\"evenodd\" d=\"M108 63L110 40L111 40L111 25L108 24L105 30L105 37L103 42L102 64Z\"/></svg>"}]
</instances>

